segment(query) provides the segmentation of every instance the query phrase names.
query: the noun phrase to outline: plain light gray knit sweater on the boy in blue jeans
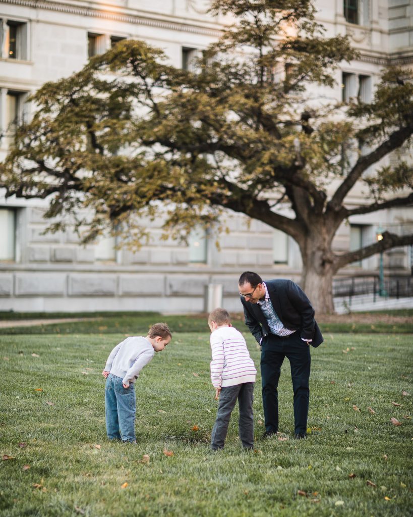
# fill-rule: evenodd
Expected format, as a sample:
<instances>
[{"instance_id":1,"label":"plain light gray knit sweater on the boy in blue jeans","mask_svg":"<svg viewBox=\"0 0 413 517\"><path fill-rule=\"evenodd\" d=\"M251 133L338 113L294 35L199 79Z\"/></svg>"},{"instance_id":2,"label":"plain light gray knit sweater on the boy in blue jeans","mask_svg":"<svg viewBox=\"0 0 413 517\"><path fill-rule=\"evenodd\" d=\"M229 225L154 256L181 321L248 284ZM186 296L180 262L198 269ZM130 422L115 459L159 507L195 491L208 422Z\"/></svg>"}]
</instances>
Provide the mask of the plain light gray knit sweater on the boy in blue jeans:
<instances>
[{"instance_id":1,"label":"plain light gray knit sweater on the boy in blue jeans","mask_svg":"<svg viewBox=\"0 0 413 517\"><path fill-rule=\"evenodd\" d=\"M105 371L122 377L123 384L129 386L139 376L139 372L155 355L152 344L141 336L126 338L115 346L106 361Z\"/></svg>"}]
</instances>

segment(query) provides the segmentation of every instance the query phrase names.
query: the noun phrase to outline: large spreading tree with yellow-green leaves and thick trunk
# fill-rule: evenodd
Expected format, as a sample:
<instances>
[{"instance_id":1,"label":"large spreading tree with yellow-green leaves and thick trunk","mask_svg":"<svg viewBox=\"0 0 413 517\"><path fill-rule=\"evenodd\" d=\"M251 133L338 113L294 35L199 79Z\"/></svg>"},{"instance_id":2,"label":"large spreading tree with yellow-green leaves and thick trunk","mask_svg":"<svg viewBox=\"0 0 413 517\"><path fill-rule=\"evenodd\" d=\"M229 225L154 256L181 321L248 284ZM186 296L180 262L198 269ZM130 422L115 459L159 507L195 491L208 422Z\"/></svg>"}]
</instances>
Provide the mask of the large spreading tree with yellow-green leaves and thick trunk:
<instances>
[{"instance_id":1,"label":"large spreading tree with yellow-green leaves and thick trunk","mask_svg":"<svg viewBox=\"0 0 413 517\"><path fill-rule=\"evenodd\" d=\"M357 251L331 248L347 218L413 202L407 163L371 168L410 139L411 77L388 69L371 103L327 103L317 92L355 52L346 37L325 37L309 0L216 0L212 12L235 23L192 72L129 40L41 87L3 185L8 196L50 197L52 230L87 208L93 219L76 222L85 241L110 224L140 242L136 215L162 216L177 236L222 210L242 212L295 239L302 287L317 311L332 312L341 267L413 242L385 232ZM350 206L357 182L370 196Z\"/></svg>"}]
</instances>

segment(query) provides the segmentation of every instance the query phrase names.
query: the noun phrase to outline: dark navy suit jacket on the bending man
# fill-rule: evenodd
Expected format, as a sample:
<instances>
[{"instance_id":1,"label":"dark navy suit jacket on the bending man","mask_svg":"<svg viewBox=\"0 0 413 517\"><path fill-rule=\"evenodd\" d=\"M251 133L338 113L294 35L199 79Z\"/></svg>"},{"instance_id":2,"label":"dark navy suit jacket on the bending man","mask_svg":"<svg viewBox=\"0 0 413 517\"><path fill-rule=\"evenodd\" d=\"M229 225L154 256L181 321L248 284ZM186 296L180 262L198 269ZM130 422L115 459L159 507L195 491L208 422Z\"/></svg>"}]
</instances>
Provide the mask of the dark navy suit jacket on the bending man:
<instances>
[{"instance_id":1,"label":"dark navy suit jacket on the bending man","mask_svg":"<svg viewBox=\"0 0 413 517\"><path fill-rule=\"evenodd\" d=\"M324 340L314 309L304 291L292 280L265 280L269 298L284 327L299 330L300 337L312 339L312 346L319 346ZM250 303L241 297L244 306L245 325L258 343L269 333L269 327L259 303Z\"/></svg>"}]
</instances>

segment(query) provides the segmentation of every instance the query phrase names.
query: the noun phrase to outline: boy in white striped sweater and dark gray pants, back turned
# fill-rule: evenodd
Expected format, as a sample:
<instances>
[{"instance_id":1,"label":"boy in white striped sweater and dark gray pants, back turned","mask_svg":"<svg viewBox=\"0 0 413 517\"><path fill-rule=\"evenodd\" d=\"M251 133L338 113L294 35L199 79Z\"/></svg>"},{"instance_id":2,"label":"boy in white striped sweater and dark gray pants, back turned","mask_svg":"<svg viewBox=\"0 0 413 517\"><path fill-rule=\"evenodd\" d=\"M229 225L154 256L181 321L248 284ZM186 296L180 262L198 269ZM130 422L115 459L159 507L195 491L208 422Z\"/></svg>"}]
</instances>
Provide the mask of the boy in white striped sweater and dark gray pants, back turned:
<instances>
[{"instance_id":1,"label":"boy in white striped sweater and dark gray pants, back turned","mask_svg":"<svg viewBox=\"0 0 413 517\"><path fill-rule=\"evenodd\" d=\"M238 400L240 439L245 449L254 445L252 400L257 370L241 332L231 325L225 309L215 309L208 318L211 329L211 381L219 398L218 413L211 435L211 448L223 449L229 420Z\"/></svg>"}]
</instances>

